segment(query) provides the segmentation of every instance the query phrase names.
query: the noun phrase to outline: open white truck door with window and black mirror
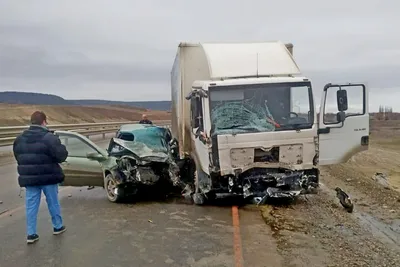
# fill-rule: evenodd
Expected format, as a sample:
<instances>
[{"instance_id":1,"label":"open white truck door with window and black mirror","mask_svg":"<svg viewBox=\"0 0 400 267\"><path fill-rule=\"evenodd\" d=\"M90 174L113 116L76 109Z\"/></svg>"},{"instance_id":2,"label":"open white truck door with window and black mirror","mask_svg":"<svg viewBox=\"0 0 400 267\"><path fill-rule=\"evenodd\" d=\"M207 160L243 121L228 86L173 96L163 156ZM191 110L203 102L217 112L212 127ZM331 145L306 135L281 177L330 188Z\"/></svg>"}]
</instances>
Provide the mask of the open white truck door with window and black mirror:
<instances>
[{"instance_id":1,"label":"open white truck door with window and black mirror","mask_svg":"<svg viewBox=\"0 0 400 267\"><path fill-rule=\"evenodd\" d=\"M364 84L327 84L319 113L319 165L347 162L368 149L368 89Z\"/></svg>"}]
</instances>

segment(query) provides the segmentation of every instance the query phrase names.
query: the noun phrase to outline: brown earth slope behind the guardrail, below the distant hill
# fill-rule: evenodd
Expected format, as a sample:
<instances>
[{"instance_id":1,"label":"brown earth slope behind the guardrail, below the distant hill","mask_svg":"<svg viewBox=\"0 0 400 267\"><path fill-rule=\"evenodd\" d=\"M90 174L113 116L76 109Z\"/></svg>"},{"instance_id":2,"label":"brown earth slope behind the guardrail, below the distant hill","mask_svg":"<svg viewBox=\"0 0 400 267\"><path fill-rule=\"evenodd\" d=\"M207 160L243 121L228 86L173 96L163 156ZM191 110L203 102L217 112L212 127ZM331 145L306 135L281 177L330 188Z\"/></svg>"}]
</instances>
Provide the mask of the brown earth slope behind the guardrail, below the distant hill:
<instances>
[{"instance_id":1,"label":"brown earth slope behind the guardrail, below the distant hill","mask_svg":"<svg viewBox=\"0 0 400 267\"><path fill-rule=\"evenodd\" d=\"M166 111L146 110L129 106L45 106L0 103L0 127L29 123L30 115L40 110L47 114L49 124L94 123L140 120L143 113L151 120L168 120Z\"/></svg>"}]
</instances>

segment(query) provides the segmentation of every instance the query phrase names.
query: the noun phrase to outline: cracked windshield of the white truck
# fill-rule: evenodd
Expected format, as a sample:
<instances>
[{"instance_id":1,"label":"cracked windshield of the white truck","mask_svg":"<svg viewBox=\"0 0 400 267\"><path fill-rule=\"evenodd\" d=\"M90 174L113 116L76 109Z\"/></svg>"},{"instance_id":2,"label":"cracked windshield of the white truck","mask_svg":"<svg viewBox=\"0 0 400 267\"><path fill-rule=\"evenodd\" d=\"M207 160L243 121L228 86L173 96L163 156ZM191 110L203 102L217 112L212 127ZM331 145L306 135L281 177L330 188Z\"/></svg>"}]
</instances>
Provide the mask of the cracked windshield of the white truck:
<instances>
[{"instance_id":1,"label":"cracked windshield of the white truck","mask_svg":"<svg viewBox=\"0 0 400 267\"><path fill-rule=\"evenodd\" d=\"M212 134L311 128L310 82L245 84L209 88Z\"/></svg>"}]
</instances>

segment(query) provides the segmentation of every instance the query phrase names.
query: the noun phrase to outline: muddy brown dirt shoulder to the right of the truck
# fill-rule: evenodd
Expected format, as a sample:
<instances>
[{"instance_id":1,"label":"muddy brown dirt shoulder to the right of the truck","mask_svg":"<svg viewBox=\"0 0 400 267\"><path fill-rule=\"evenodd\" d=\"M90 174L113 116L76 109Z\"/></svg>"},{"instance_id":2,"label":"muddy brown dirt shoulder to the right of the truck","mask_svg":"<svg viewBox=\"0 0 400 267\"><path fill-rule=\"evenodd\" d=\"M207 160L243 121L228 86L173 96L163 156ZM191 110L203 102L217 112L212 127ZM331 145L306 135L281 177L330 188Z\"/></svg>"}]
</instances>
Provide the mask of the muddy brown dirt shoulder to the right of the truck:
<instances>
[{"instance_id":1,"label":"muddy brown dirt shoulder to the right of the truck","mask_svg":"<svg viewBox=\"0 0 400 267\"><path fill-rule=\"evenodd\" d=\"M400 266L399 133L400 121L372 122L370 149L322 168L317 195L261 208L284 266ZM335 187L350 195L353 213Z\"/></svg>"}]
</instances>

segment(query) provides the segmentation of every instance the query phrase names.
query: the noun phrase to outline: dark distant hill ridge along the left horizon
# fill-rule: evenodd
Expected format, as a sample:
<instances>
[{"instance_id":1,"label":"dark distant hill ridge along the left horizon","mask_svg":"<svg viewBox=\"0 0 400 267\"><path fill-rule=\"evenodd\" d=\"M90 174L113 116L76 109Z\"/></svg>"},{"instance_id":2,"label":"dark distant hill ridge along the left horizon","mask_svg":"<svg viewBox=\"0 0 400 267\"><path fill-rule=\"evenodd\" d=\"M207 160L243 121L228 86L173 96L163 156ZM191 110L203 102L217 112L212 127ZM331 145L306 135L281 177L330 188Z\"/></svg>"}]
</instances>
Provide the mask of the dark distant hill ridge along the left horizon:
<instances>
[{"instance_id":1,"label":"dark distant hill ridge along the left horizon","mask_svg":"<svg viewBox=\"0 0 400 267\"><path fill-rule=\"evenodd\" d=\"M79 106L104 106L123 105L151 110L171 110L171 101L110 101L97 99L67 100L62 97L27 92L0 92L0 103L29 104L29 105L79 105Z\"/></svg>"}]
</instances>

